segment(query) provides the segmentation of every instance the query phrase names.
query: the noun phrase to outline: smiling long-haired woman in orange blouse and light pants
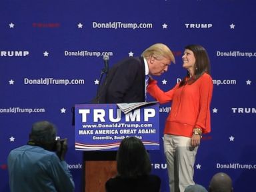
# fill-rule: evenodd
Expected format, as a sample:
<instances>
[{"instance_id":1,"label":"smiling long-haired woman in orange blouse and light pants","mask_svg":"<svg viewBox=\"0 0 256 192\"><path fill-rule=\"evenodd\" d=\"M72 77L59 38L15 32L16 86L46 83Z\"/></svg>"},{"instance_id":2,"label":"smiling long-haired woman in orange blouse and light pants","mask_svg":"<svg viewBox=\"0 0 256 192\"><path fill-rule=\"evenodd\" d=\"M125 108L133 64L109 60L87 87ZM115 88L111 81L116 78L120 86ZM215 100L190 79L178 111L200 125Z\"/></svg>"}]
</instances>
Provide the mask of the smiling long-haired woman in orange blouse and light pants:
<instances>
[{"instance_id":1,"label":"smiling long-haired woman in orange blouse and light pants","mask_svg":"<svg viewBox=\"0 0 256 192\"><path fill-rule=\"evenodd\" d=\"M169 187L183 192L194 185L194 163L202 133L211 131L210 103L213 81L207 51L201 45L188 45L183 54L187 75L167 92L150 79L147 91L159 103L172 102L165 122L164 151L167 160Z\"/></svg>"}]
</instances>

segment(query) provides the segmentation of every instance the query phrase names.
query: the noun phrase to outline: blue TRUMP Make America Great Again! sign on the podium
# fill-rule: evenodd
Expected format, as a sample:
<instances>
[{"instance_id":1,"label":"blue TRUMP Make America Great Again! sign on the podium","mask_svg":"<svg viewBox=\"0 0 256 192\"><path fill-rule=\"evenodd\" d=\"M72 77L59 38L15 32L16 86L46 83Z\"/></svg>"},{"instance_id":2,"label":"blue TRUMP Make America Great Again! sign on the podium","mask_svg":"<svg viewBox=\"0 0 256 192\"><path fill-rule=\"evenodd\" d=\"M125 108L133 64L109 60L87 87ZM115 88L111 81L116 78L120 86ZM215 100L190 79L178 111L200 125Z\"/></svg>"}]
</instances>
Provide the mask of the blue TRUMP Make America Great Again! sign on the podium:
<instances>
[{"instance_id":1,"label":"blue TRUMP Make America Great Again! sign on the podium","mask_svg":"<svg viewBox=\"0 0 256 192\"><path fill-rule=\"evenodd\" d=\"M137 137L147 150L159 149L159 104L123 113L117 104L75 105L75 149L115 151L125 137Z\"/></svg>"}]
</instances>

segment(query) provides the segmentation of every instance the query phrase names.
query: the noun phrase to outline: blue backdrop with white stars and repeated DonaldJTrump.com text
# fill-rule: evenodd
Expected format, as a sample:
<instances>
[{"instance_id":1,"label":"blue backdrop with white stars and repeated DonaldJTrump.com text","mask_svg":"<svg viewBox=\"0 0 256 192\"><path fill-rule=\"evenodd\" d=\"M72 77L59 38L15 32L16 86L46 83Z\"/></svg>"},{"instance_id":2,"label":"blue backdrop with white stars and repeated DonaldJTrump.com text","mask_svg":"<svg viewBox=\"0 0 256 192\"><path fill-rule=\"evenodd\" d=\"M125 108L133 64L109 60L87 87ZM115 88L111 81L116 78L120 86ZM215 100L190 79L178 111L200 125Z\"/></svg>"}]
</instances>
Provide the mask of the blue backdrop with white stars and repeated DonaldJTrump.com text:
<instances>
[{"instance_id":1,"label":"blue backdrop with white stars and repeated DonaldJTrump.com text","mask_svg":"<svg viewBox=\"0 0 256 192\"><path fill-rule=\"evenodd\" d=\"M32 123L42 119L69 139L67 163L81 191L71 107L95 96L104 54L111 66L153 43L168 45L177 60L157 78L164 90L186 73L185 45L203 45L211 59L212 132L197 153L195 181L207 187L223 171L235 191L255 191L255 18L253 0L1 0L0 191L9 191L9 151L25 144ZM160 137L169 107L160 105ZM153 173L168 191L163 143L160 148L150 153Z\"/></svg>"}]
</instances>

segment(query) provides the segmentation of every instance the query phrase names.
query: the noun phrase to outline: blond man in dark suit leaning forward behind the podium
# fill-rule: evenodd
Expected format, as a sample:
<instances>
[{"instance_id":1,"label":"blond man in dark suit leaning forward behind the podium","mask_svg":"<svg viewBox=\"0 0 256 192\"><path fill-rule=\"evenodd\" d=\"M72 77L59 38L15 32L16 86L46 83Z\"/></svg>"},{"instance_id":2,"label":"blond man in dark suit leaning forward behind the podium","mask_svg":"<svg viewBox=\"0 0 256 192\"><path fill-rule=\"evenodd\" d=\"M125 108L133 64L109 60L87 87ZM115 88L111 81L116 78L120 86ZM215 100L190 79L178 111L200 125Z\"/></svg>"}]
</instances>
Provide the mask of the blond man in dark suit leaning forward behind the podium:
<instances>
[{"instance_id":1,"label":"blond man in dark suit leaning forward behind the podium","mask_svg":"<svg viewBox=\"0 0 256 192\"><path fill-rule=\"evenodd\" d=\"M167 71L173 53L162 43L145 49L141 57L128 57L119 61L109 71L101 85L99 103L135 103L145 101L145 77L161 75Z\"/></svg>"}]
</instances>

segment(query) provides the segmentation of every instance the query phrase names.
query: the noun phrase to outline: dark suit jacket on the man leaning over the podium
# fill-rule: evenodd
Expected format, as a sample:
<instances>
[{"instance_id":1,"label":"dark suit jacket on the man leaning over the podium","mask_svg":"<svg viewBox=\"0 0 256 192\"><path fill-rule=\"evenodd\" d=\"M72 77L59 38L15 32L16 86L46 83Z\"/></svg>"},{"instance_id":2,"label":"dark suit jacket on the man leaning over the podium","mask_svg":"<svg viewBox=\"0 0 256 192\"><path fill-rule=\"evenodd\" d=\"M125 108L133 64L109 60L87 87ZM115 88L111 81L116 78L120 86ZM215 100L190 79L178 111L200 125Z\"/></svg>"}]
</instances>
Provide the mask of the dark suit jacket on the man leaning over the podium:
<instances>
[{"instance_id":1,"label":"dark suit jacket on the man leaning over the podium","mask_svg":"<svg viewBox=\"0 0 256 192\"><path fill-rule=\"evenodd\" d=\"M113 65L101 84L99 103L145 101L145 64L143 57L128 57Z\"/></svg>"}]
</instances>

